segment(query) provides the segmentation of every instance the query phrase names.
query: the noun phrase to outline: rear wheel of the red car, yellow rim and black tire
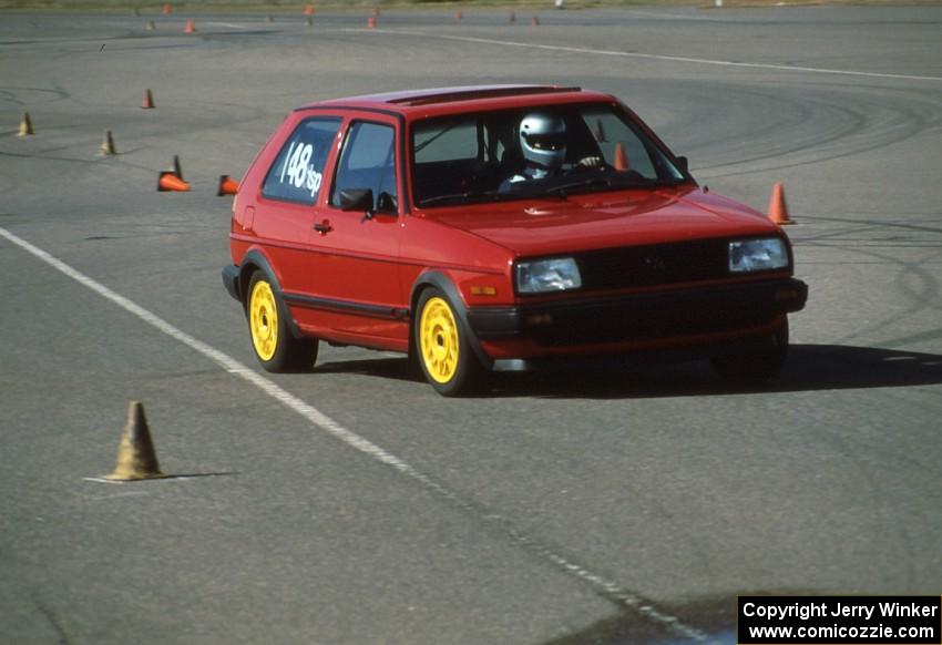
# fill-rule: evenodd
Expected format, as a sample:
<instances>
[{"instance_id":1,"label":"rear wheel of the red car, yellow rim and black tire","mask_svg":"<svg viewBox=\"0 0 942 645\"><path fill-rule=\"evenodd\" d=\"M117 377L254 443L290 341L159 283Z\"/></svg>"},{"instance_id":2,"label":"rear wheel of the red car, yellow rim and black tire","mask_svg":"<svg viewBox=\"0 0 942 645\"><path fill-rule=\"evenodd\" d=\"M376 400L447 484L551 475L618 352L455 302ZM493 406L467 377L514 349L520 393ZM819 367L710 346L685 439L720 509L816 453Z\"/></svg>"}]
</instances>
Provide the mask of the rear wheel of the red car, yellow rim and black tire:
<instances>
[{"instance_id":1,"label":"rear wheel of the red car, yellow rim and black tire","mask_svg":"<svg viewBox=\"0 0 942 645\"><path fill-rule=\"evenodd\" d=\"M298 372L314 368L316 338L296 338L288 308L264 272L255 272L245 294L245 317L255 357L266 371Z\"/></svg>"}]
</instances>

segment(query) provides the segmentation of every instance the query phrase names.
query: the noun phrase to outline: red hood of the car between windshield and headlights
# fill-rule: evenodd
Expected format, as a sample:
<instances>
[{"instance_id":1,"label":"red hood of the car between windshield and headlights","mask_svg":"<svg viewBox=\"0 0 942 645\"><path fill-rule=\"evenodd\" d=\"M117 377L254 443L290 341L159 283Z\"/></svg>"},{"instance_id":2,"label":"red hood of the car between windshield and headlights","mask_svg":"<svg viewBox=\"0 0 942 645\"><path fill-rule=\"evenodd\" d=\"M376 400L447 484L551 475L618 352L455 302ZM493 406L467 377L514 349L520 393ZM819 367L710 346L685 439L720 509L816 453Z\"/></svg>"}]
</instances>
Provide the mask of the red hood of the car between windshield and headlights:
<instances>
[{"instance_id":1,"label":"red hood of the car between windshield and headlights","mask_svg":"<svg viewBox=\"0 0 942 645\"><path fill-rule=\"evenodd\" d=\"M699 188L595 193L438 208L420 215L519 256L778 231L761 213Z\"/></svg>"}]
</instances>

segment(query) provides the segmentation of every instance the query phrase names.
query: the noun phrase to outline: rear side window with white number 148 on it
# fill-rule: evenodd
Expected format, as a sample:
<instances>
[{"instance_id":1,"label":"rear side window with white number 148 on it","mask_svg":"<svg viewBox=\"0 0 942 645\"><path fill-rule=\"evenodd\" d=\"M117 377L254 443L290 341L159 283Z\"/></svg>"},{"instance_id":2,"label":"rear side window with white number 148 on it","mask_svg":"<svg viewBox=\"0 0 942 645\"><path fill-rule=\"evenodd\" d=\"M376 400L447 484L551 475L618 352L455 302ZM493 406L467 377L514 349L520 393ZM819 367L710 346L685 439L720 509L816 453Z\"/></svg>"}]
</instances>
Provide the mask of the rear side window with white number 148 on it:
<instances>
[{"instance_id":1,"label":"rear side window with white number 148 on it","mask_svg":"<svg viewBox=\"0 0 942 645\"><path fill-rule=\"evenodd\" d=\"M340 130L340 121L336 116L301 121L268 168L262 195L298 204L316 203L324 181L324 165Z\"/></svg>"}]
</instances>

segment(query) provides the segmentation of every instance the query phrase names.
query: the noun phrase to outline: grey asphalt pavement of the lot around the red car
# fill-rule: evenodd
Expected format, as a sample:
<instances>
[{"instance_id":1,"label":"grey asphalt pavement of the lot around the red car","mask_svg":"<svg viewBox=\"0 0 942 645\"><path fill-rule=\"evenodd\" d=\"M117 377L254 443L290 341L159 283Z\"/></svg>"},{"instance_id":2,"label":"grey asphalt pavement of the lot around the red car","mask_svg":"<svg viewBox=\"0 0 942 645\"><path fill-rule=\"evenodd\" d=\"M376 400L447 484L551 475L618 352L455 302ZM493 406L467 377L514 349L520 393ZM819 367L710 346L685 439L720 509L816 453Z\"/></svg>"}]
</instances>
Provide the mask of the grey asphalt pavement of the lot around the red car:
<instances>
[{"instance_id":1,"label":"grey asphalt pavement of the lot around the red car","mask_svg":"<svg viewBox=\"0 0 942 645\"><path fill-rule=\"evenodd\" d=\"M738 594L942 592L942 8L533 14L0 14L0 643L731 643ZM260 371L219 175L304 103L515 82L616 94L756 208L784 183L776 383ZM89 481L130 400L175 477Z\"/></svg>"}]
</instances>

